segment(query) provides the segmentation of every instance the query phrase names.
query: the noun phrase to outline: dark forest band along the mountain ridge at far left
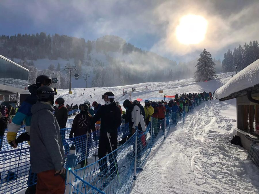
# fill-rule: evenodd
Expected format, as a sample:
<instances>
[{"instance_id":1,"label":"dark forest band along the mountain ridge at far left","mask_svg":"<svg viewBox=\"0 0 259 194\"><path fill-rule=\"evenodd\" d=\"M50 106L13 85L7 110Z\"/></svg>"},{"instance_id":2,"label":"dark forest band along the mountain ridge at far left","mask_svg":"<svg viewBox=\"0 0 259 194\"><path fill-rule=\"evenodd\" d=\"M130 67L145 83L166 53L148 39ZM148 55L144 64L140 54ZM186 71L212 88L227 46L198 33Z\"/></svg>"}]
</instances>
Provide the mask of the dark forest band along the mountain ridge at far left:
<instances>
[{"instance_id":1,"label":"dark forest band along the mountain ridge at far left","mask_svg":"<svg viewBox=\"0 0 259 194\"><path fill-rule=\"evenodd\" d=\"M45 32L36 34L15 34L0 36L0 53L5 57L24 58L30 60L48 58L50 60L75 58L83 60L85 39L66 35L47 35Z\"/></svg>"}]
</instances>

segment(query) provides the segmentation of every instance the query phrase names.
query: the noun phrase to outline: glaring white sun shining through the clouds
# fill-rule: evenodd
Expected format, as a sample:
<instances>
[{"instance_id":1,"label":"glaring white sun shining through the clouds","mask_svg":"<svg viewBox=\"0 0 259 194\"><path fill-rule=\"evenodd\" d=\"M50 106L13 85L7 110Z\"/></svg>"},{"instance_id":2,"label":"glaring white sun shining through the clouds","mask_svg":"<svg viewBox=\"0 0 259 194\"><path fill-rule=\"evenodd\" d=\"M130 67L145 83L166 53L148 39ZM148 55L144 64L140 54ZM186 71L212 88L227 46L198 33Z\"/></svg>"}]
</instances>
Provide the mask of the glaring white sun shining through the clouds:
<instances>
[{"instance_id":1,"label":"glaring white sun shining through the clouds","mask_svg":"<svg viewBox=\"0 0 259 194\"><path fill-rule=\"evenodd\" d=\"M186 15L176 27L177 40L185 45L199 44L204 40L208 22L199 15Z\"/></svg>"}]
</instances>

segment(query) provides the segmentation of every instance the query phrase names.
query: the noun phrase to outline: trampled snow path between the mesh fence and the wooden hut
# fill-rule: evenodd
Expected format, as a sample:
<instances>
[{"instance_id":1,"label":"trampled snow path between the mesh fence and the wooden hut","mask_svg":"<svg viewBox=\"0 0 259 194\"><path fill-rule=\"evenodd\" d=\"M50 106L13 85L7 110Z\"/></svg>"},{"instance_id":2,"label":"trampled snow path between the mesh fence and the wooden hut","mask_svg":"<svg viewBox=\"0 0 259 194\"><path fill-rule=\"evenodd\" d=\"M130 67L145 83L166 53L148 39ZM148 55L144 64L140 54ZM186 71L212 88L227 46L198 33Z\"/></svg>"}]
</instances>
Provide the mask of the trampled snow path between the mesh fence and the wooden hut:
<instances>
[{"instance_id":1,"label":"trampled snow path between the mesh fence and the wooden hut","mask_svg":"<svg viewBox=\"0 0 259 194\"><path fill-rule=\"evenodd\" d=\"M235 107L207 101L153 148L131 193L259 193L259 170L230 144ZM228 114L228 117L226 117Z\"/></svg>"}]
</instances>

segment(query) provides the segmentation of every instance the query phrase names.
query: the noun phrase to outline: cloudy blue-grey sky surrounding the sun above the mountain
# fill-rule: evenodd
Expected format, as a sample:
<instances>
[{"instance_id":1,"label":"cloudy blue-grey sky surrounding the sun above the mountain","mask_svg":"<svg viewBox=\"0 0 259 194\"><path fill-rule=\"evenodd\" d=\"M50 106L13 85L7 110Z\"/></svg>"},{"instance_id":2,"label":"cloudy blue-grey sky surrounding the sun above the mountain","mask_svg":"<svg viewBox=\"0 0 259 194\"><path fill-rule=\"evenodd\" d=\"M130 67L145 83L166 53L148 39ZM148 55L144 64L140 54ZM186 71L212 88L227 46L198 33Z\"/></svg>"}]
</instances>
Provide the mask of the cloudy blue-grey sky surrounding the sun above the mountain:
<instances>
[{"instance_id":1,"label":"cloudy blue-grey sky surrounding the sun above the mountain","mask_svg":"<svg viewBox=\"0 0 259 194\"><path fill-rule=\"evenodd\" d=\"M46 32L86 41L110 34L177 61L204 48L222 59L228 48L259 41L258 7L258 0L1 0L0 34ZM189 14L205 18L207 31L200 43L184 45L176 27Z\"/></svg>"}]
</instances>

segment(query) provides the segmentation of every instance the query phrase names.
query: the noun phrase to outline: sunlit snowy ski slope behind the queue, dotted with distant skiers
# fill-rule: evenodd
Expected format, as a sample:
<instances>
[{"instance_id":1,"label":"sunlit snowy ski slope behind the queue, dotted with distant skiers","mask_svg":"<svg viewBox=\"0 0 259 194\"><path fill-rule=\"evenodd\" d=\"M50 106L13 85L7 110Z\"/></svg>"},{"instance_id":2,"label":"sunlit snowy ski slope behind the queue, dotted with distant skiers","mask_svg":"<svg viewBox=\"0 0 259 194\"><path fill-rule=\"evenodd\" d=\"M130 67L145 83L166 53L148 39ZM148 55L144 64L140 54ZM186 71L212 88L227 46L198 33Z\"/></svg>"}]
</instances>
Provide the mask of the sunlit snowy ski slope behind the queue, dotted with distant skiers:
<instances>
[{"instance_id":1,"label":"sunlit snowy ski slope behind the queue, dotted with distant skiers","mask_svg":"<svg viewBox=\"0 0 259 194\"><path fill-rule=\"evenodd\" d=\"M127 86L117 86L117 87L102 87L102 88L73 88L73 95L68 94L68 89L58 90L58 95L55 97L63 97L65 99L65 104L82 104L85 100L89 100L91 103L97 101L98 103L104 104L102 100L102 95L107 91L112 91L115 94L115 101L119 101L123 104L125 99L129 98L128 93L132 91L132 87L136 88L135 92L132 92L132 100L137 98L149 100L160 100L161 95L159 90L163 90L163 94L175 95L180 93L198 93L198 92L214 92L216 89L224 85L229 79L233 72L218 74L218 78L208 82L195 82L193 78L183 79L169 82L147 82ZM148 89L146 89L146 86ZM73 87L73 83L72 83ZM84 91L85 89L85 91ZM127 91L127 94L123 96L123 89ZM84 93L84 96L80 96ZM95 94L94 94L95 93ZM163 99L162 94L162 99ZM90 98L92 95L92 98Z\"/></svg>"}]
</instances>

